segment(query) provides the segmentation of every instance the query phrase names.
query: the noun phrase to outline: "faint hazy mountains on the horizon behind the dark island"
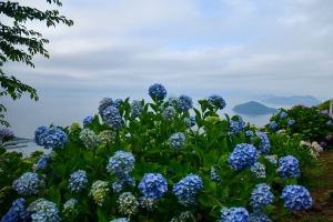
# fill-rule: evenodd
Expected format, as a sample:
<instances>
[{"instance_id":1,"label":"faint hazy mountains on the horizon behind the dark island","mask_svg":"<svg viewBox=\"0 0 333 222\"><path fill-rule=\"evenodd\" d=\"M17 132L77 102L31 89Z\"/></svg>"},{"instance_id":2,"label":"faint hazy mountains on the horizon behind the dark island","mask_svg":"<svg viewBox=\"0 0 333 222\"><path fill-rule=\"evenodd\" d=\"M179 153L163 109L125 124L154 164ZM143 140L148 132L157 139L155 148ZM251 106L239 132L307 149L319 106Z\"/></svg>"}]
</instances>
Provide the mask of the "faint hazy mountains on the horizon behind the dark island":
<instances>
[{"instance_id":1,"label":"faint hazy mountains on the horizon behind the dark island","mask_svg":"<svg viewBox=\"0 0 333 222\"><path fill-rule=\"evenodd\" d=\"M317 100L312 95L272 97L261 101L266 103L273 103L273 104L289 104L289 105L296 105L303 103L306 107L317 105L321 103L320 100Z\"/></svg>"}]
</instances>

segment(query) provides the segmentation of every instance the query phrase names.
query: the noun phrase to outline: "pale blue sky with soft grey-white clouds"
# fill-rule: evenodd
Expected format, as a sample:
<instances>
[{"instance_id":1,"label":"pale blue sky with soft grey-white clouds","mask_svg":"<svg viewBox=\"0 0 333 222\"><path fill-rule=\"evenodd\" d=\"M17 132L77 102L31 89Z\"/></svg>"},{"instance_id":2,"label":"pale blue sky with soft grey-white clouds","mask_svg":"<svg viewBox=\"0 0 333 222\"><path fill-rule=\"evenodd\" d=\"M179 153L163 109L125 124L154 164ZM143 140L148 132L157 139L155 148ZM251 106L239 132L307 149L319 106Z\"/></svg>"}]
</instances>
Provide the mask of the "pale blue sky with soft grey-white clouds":
<instances>
[{"instance_id":1,"label":"pale blue sky with soft grey-white clouds","mask_svg":"<svg viewBox=\"0 0 333 222\"><path fill-rule=\"evenodd\" d=\"M58 8L44 0L19 2ZM3 67L7 74L34 87L41 102L49 97L141 99L153 83L193 98L275 94L323 101L333 95L331 0L62 3L60 14L72 19L73 27L26 23L50 40L50 59L36 56L34 69L23 63ZM6 105L19 109L10 100ZM97 110L98 104L90 105Z\"/></svg>"}]
</instances>

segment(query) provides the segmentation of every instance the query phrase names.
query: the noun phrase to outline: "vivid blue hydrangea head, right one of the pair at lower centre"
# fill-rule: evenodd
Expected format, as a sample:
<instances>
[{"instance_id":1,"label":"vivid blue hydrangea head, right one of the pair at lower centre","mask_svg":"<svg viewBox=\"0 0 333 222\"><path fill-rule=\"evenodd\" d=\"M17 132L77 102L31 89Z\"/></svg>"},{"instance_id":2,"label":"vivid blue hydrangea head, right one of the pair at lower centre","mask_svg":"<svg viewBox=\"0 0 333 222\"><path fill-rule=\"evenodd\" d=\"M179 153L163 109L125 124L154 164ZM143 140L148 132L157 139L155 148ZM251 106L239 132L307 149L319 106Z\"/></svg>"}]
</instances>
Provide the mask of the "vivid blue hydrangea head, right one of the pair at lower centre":
<instances>
[{"instance_id":1,"label":"vivid blue hydrangea head, right one of the pair at lower centre","mask_svg":"<svg viewBox=\"0 0 333 222\"><path fill-rule=\"evenodd\" d=\"M179 202L184 206L196 205L195 194L198 190L202 189L202 180L199 175L190 173L179 183L173 184L173 193L176 195Z\"/></svg>"}]
</instances>

